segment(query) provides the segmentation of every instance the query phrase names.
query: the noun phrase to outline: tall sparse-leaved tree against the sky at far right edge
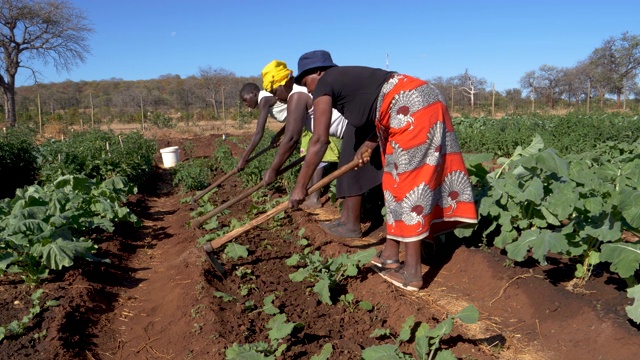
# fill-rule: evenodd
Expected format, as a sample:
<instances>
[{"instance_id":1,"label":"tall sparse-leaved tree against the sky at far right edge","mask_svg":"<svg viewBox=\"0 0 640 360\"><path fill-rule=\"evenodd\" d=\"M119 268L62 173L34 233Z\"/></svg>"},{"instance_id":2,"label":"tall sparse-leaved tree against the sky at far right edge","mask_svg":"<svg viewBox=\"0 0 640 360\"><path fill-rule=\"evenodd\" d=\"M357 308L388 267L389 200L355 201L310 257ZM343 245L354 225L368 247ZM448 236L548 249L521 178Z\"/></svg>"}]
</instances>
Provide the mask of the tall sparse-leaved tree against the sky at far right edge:
<instances>
[{"instance_id":1,"label":"tall sparse-leaved tree against the sky at far right edge","mask_svg":"<svg viewBox=\"0 0 640 360\"><path fill-rule=\"evenodd\" d=\"M619 107L625 88L635 83L638 76L640 36L624 32L620 37L610 37L591 53L588 62L600 81L616 95Z\"/></svg>"}]
</instances>

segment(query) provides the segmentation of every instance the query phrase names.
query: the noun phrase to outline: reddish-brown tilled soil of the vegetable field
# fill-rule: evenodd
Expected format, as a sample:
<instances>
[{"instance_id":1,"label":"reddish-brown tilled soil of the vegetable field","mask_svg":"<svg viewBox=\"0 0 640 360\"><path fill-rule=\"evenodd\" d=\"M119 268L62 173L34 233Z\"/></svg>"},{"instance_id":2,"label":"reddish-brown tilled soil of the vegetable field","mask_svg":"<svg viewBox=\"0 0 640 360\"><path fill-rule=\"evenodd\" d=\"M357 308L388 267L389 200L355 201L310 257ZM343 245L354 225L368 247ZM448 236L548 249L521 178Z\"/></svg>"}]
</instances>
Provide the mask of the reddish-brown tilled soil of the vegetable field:
<instances>
[{"instance_id":1,"label":"reddish-brown tilled soil of the vegetable field","mask_svg":"<svg viewBox=\"0 0 640 360\"><path fill-rule=\"evenodd\" d=\"M156 136L159 148L189 141L194 145L189 155L199 157L211 155L213 139L220 135L185 137L173 131ZM248 136L237 139L247 142ZM229 144L238 155L241 149L234 141ZM197 245L207 232L187 226L191 209L181 204L184 194L172 188L170 172L158 166L155 174L151 190L128 204L143 226L119 226L114 234L94 239L96 255L110 263L82 262L52 274L42 285L41 304L52 299L60 304L41 312L24 336L2 341L1 359L224 359L233 343L268 341L265 325L271 317L246 311L244 304L252 300L261 308L271 294L277 295L274 305L288 321L304 324L285 339L285 359L309 359L326 343L334 349L331 359L359 359L364 348L393 343L371 338L375 329L391 329L397 336L411 315L433 327L468 304L480 310L480 321L456 322L441 344L458 358L637 359L640 353L640 331L625 314L630 299L617 276L599 269L584 291L572 292L566 289L570 263L511 264L477 239L450 237L435 251L425 244L425 287L419 293L400 290L365 267L337 295L351 293L369 301L372 311L322 304L308 284L288 278L294 269L284 260L301 250L295 245L299 229L306 229L310 245L325 256L381 248L384 241L384 227L367 229L358 241L328 237L317 223L338 216L338 210L326 199L315 213L287 212L236 238L249 247L249 257L223 260L228 275L222 278ZM222 204L239 189L232 177L212 201ZM233 206L227 219L242 217L249 201ZM240 267L250 269L255 279L240 280L234 273ZM240 295L248 284L256 288ZM224 302L216 291L237 300ZM32 292L18 277L0 278L0 324L24 316ZM411 353L413 345L401 349Z\"/></svg>"}]
</instances>

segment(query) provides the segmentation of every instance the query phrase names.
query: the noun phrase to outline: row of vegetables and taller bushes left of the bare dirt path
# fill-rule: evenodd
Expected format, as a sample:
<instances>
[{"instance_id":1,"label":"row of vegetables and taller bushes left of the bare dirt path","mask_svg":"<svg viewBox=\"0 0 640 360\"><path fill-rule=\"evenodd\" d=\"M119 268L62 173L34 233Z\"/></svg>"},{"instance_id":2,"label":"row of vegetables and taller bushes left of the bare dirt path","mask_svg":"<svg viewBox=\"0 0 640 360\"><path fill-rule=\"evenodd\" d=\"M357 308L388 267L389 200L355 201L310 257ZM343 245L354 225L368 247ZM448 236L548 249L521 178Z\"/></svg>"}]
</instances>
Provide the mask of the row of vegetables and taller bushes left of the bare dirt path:
<instances>
[{"instance_id":1,"label":"row of vegetables and taller bushes left of the bare dirt path","mask_svg":"<svg viewBox=\"0 0 640 360\"><path fill-rule=\"evenodd\" d=\"M33 153L38 184L0 200L0 274L20 273L27 283L76 258L98 260L89 234L139 222L122 204L151 172L156 144L139 133L91 130L45 141Z\"/></svg>"}]
</instances>

